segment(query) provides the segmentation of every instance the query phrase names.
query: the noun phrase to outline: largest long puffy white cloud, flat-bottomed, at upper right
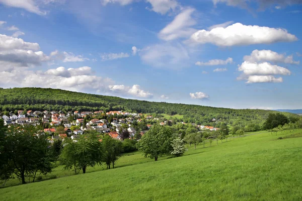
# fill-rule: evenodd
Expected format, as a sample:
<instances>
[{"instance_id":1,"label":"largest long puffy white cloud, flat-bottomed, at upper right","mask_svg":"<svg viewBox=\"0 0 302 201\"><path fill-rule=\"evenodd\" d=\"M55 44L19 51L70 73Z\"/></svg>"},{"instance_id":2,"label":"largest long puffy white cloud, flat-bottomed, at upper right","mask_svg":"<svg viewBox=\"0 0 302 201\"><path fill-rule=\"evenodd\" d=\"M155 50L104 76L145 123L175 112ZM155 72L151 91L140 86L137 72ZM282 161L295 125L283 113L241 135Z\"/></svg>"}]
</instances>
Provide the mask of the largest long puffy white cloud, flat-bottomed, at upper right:
<instances>
[{"instance_id":1,"label":"largest long puffy white cloud, flat-bottomed, at upper right","mask_svg":"<svg viewBox=\"0 0 302 201\"><path fill-rule=\"evenodd\" d=\"M191 36L196 43L212 43L217 46L271 44L276 42L293 42L297 37L285 29L247 26L241 23L226 28L218 27L211 31L199 30Z\"/></svg>"}]
</instances>

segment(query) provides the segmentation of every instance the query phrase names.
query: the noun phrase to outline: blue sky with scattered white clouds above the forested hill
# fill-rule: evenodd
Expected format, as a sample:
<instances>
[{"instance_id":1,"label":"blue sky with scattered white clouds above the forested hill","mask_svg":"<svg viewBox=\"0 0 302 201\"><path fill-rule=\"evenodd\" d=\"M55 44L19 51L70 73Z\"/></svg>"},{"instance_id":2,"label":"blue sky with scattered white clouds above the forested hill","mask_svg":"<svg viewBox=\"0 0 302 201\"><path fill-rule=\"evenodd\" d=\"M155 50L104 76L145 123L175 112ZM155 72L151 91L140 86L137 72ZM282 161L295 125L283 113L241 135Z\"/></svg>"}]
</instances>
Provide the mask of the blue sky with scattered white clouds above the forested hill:
<instances>
[{"instance_id":1,"label":"blue sky with scattered white clouds above the forested hill","mask_svg":"<svg viewBox=\"0 0 302 201\"><path fill-rule=\"evenodd\" d=\"M302 0L0 0L0 87L300 109L301 24Z\"/></svg>"}]
</instances>

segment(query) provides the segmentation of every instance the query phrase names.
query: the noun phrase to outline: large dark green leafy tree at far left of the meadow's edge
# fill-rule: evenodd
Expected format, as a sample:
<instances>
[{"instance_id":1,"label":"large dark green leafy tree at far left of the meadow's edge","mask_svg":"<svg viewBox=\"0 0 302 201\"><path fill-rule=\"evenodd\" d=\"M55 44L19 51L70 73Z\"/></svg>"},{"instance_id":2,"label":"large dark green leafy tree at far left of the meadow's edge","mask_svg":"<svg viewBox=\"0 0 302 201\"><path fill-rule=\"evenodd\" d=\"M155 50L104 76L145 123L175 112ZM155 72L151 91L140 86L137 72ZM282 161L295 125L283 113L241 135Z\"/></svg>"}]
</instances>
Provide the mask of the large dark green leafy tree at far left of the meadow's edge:
<instances>
[{"instance_id":1,"label":"large dark green leafy tree at far left of the meadow's edge","mask_svg":"<svg viewBox=\"0 0 302 201\"><path fill-rule=\"evenodd\" d=\"M4 150L8 154L7 164L22 183L26 183L27 176L33 177L34 181L37 172L51 172L55 157L49 147L47 135L37 135L35 128L11 127L7 131Z\"/></svg>"}]
</instances>

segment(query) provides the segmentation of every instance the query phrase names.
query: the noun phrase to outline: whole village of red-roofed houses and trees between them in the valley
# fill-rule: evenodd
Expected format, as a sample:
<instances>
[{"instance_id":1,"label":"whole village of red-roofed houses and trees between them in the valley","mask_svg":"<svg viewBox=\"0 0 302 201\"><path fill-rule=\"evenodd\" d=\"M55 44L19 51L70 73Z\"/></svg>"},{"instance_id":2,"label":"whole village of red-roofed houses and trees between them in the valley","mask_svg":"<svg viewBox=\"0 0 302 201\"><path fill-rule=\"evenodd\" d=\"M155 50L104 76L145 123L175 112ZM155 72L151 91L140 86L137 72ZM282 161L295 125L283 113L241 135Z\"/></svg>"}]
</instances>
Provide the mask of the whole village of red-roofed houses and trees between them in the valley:
<instances>
[{"instance_id":1,"label":"whole village of red-roofed houses and trees between them in the valley","mask_svg":"<svg viewBox=\"0 0 302 201\"><path fill-rule=\"evenodd\" d=\"M67 112L62 111L23 111L19 110L15 114L3 115L6 126L32 125L41 128L41 132L50 136L49 142L53 143L55 139L64 140L64 138L71 138L77 141L79 135L85 134L86 131L96 131L100 134L108 134L114 139L121 140L120 134L128 132L130 139L139 140L144 133L152 127L152 125L159 123L161 126L171 126L173 122L165 118L154 118L149 114L129 113L122 111L95 111L95 112ZM213 119L212 121L216 121ZM195 127L201 131L217 131L219 128L211 126L196 125L194 123L177 122L176 124L183 124ZM139 137L135 137L135 134Z\"/></svg>"}]
</instances>

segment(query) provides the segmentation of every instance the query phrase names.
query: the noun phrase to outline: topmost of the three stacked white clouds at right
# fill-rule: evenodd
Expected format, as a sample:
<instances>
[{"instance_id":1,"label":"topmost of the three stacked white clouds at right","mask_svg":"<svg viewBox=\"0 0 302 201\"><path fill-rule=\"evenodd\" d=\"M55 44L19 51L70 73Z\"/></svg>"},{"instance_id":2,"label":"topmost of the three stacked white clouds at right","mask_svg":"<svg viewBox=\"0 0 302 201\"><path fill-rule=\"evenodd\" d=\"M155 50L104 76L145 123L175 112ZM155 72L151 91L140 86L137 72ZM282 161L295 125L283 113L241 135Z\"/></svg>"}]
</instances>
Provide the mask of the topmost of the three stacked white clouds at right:
<instances>
[{"instance_id":1,"label":"topmost of the three stacked white clouds at right","mask_svg":"<svg viewBox=\"0 0 302 201\"><path fill-rule=\"evenodd\" d=\"M245 61L249 62L263 62L271 61L275 63L289 63L289 64L299 64L300 61L294 61L293 56L285 56L285 54L278 54L271 50L254 50L251 55L244 56Z\"/></svg>"}]
</instances>

